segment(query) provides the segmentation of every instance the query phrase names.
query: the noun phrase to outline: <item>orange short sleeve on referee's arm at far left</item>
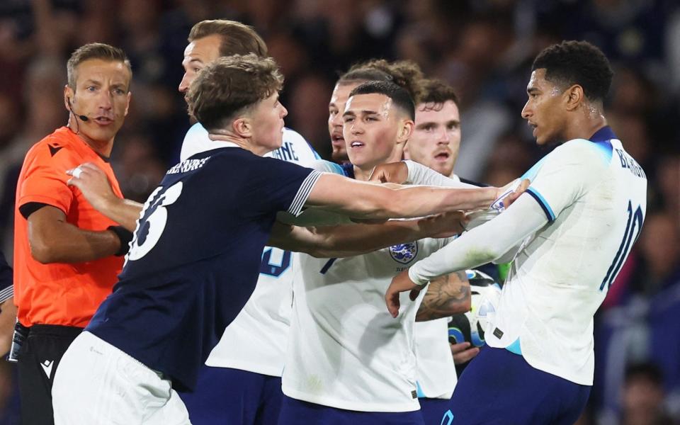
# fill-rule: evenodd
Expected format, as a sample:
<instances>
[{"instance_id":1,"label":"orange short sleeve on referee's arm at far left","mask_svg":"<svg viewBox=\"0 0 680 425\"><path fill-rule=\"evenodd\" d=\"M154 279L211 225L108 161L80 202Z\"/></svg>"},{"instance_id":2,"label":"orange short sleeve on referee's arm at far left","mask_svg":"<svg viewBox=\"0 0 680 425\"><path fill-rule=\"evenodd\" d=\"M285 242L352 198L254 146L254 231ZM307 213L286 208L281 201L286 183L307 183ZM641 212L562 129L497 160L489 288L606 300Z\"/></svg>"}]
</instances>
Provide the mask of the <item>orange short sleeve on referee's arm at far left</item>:
<instances>
[{"instance_id":1,"label":"orange short sleeve on referee's arm at far left","mask_svg":"<svg viewBox=\"0 0 680 425\"><path fill-rule=\"evenodd\" d=\"M65 162L51 157L47 152L48 148L47 145L37 145L27 155L22 170L23 179L18 188L17 205L21 207L27 203L45 203L68 214L74 198L73 191L66 184L69 179L66 171L69 167ZM42 149L46 152L40 152Z\"/></svg>"}]
</instances>

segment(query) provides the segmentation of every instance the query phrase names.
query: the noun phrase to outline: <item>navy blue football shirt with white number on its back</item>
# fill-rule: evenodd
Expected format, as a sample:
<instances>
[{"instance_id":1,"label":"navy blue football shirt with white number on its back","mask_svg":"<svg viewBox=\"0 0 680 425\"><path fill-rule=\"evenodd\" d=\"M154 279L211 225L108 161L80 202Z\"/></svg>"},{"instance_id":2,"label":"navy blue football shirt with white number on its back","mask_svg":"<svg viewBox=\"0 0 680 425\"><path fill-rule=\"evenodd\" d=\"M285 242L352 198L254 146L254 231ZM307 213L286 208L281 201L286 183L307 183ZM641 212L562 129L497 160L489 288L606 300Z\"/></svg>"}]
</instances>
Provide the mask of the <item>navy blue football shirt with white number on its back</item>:
<instances>
[{"instance_id":1,"label":"navy blue football shirt with white number on its back","mask_svg":"<svg viewBox=\"0 0 680 425\"><path fill-rule=\"evenodd\" d=\"M86 330L193 389L255 288L276 213L299 214L319 176L238 147L177 164L145 203L119 282Z\"/></svg>"}]
</instances>

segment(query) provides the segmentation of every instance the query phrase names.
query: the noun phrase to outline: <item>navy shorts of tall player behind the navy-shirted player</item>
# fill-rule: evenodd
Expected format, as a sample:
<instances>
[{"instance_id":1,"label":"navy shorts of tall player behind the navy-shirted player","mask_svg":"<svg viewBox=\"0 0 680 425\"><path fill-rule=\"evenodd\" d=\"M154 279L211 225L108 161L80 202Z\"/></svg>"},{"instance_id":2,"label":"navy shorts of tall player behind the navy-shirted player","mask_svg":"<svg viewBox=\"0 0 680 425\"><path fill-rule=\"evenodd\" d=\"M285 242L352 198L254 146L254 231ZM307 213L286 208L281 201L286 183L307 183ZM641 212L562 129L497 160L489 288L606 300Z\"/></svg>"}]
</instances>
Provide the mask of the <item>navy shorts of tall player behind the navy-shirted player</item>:
<instances>
[{"instance_id":1,"label":"navy shorts of tall player behind the navy-shirted player","mask_svg":"<svg viewBox=\"0 0 680 425\"><path fill-rule=\"evenodd\" d=\"M193 425L276 424L281 378L203 365L196 391L180 392Z\"/></svg>"}]
</instances>

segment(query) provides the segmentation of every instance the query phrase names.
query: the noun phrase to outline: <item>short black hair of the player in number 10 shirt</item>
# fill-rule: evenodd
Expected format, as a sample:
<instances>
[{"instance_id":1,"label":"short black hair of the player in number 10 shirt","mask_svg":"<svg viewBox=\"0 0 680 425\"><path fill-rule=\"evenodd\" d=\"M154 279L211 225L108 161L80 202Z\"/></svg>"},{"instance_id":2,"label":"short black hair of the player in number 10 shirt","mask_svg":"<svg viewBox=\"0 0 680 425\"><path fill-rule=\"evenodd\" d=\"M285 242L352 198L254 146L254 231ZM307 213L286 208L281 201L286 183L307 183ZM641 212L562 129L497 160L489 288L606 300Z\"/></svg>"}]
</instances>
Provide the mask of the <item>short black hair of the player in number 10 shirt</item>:
<instances>
[{"instance_id":1,"label":"short black hair of the player in number 10 shirt","mask_svg":"<svg viewBox=\"0 0 680 425\"><path fill-rule=\"evenodd\" d=\"M574 40L546 47L533 61L531 70L536 69L545 69L545 79L557 86L579 84L591 101L604 101L614 74L598 47Z\"/></svg>"}]
</instances>

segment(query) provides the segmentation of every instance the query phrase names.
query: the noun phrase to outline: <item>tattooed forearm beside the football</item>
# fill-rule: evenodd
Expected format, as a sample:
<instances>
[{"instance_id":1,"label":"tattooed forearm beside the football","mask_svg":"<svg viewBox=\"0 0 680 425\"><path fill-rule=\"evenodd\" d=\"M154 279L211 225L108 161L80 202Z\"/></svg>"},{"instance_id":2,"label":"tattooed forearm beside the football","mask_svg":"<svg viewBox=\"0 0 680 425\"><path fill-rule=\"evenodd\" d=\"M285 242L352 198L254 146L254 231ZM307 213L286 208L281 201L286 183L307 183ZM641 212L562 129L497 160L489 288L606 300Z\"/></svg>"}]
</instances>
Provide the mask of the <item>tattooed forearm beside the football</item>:
<instances>
[{"instance_id":1,"label":"tattooed forearm beside the football","mask_svg":"<svg viewBox=\"0 0 680 425\"><path fill-rule=\"evenodd\" d=\"M432 280L416 313L416 322L439 319L470 311L470 283L465 272Z\"/></svg>"}]
</instances>

